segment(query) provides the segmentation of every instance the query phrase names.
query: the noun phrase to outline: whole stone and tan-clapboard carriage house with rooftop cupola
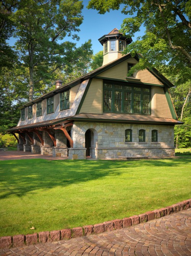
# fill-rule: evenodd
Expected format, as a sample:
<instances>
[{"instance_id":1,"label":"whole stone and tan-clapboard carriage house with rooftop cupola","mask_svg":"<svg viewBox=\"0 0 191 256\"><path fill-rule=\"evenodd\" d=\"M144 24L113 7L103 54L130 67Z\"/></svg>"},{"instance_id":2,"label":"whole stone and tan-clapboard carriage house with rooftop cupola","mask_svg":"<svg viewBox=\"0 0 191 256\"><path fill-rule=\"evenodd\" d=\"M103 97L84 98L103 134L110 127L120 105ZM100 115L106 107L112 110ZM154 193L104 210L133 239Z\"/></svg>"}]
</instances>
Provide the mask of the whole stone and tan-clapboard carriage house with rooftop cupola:
<instances>
[{"instance_id":1,"label":"whole stone and tan-clapboard carriage house with rooftop cupola","mask_svg":"<svg viewBox=\"0 0 191 256\"><path fill-rule=\"evenodd\" d=\"M117 29L99 39L100 68L21 107L18 125L8 131L18 150L69 159L173 156L178 121L168 88L155 69L128 70L139 55L123 55L131 38ZM18 135L16 135L18 134Z\"/></svg>"}]
</instances>

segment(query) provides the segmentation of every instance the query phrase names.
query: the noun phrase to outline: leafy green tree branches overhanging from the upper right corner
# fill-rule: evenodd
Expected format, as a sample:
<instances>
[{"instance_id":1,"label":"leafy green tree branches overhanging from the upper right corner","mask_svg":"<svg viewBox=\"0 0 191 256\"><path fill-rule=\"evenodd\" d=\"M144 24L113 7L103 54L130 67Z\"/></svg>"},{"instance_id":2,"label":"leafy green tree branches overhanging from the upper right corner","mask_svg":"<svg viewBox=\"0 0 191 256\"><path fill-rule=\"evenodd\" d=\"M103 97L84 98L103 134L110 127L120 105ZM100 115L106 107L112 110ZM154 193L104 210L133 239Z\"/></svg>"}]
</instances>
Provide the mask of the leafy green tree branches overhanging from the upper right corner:
<instances>
[{"instance_id":1,"label":"leafy green tree branches overhanging from the upper right corner","mask_svg":"<svg viewBox=\"0 0 191 256\"><path fill-rule=\"evenodd\" d=\"M161 72L179 74L178 82L191 79L191 2L189 0L91 0L88 8L99 13L118 10L133 17L123 20L121 32L134 36L145 27L145 35L126 48L126 53L140 53L144 58L132 68L144 69L146 66ZM152 64L151 64L152 63Z\"/></svg>"}]
</instances>

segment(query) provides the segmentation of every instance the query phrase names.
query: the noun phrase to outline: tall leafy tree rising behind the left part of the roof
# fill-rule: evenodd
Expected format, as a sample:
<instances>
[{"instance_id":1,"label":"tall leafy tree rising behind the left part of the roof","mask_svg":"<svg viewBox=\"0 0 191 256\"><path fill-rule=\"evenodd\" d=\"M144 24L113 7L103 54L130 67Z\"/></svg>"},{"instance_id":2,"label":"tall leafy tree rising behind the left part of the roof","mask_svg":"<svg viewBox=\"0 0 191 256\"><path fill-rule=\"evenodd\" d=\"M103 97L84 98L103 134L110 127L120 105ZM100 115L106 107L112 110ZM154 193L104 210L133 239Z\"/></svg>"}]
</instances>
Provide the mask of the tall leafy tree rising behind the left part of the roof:
<instances>
[{"instance_id":1,"label":"tall leafy tree rising behind the left part of the roof","mask_svg":"<svg viewBox=\"0 0 191 256\"><path fill-rule=\"evenodd\" d=\"M50 84L57 69L70 69L79 61L82 49L91 55L91 43L81 48L65 41L66 36L78 40L75 32L83 21L82 2L78 0L25 0L13 15L14 36L19 59L29 71L29 101L40 93L42 84ZM39 96L37 94L37 96Z\"/></svg>"}]
</instances>

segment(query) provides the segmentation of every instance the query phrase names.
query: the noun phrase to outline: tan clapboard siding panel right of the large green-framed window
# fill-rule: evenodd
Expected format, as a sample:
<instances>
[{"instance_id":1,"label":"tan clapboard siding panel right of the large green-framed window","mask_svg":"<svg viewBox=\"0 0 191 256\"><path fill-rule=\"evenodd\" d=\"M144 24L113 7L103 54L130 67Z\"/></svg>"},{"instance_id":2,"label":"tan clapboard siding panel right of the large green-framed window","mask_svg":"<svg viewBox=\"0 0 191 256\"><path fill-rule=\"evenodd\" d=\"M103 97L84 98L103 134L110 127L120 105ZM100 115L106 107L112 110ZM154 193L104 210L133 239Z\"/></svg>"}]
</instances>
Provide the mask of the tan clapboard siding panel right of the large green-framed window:
<instances>
[{"instance_id":1,"label":"tan clapboard siding panel right of the large green-framed window","mask_svg":"<svg viewBox=\"0 0 191 256\"><path fill-rule=\"evenodd\" d=\"M172 118L170 107L163 88L153 86L151 89L151 109L152 116Z\"/></svg>"}]
</instances>

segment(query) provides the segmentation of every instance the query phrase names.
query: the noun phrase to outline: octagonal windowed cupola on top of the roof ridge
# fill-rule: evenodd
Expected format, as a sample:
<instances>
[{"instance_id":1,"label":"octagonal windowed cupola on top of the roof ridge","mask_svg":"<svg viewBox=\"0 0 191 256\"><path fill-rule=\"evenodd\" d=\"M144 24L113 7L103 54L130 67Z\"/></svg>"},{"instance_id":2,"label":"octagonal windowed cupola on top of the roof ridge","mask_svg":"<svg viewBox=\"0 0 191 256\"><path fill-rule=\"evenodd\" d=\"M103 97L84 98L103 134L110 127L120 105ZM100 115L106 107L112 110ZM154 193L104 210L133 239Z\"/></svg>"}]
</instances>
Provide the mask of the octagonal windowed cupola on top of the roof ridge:
<instances>
[{"instance_id":1,"label":"octagonal windowed cupola on top of the roof ridge","mask_svg":"<svg viewBox=\"0 0 191 256\"><path fill-rule=\"evenodd\" d=\"M102 36L98 40L104 48L104 61L102 66L120 58L122 51L132 42L131 37L123 36L117 28L114 28L110 33Z\"/></svg>"}]
</instances>

